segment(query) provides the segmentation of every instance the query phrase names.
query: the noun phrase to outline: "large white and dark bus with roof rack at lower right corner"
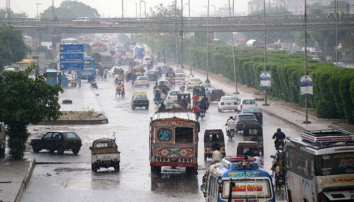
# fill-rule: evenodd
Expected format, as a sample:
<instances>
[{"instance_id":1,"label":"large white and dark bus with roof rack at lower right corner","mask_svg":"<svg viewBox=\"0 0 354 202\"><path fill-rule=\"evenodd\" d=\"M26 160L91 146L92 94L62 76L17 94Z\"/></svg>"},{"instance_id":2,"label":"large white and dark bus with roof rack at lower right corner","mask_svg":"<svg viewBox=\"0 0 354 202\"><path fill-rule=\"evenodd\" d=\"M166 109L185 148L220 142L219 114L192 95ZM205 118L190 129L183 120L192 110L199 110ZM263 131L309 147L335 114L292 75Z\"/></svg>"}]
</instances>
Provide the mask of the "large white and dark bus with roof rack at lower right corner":
<instances>
[{"instance_id":1,"label":"large white and dark bus with roof rack at lower right corner","mask_svg":"<svg viewBox=\"0 0 354 202\"><path fill-rule=\"evenodd\" d=\"M334 129L287 137L283 169L288 201L353 201L354 136Z\"/></svg>"}]
</instances>

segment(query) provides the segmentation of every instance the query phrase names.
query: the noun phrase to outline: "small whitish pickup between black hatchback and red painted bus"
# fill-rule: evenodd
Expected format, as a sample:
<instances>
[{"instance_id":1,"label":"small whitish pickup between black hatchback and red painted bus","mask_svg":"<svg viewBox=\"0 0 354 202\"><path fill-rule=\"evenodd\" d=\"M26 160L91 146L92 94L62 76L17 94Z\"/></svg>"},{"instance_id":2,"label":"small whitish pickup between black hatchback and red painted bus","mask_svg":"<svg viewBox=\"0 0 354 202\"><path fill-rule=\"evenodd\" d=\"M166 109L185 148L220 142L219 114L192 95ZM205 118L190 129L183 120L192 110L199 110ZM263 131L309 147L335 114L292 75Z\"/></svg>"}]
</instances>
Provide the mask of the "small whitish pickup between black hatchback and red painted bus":
<instances>
[{"instance_id":1,"label":"small whitish pickup between black hatchback and red painted bus","mask_svg":"<svg viewBox=\"0 0 354 202\"><path fill-rule=\"evenodd\" d=\"M95 173L100 168L113 167L119 171L120 151L114 139L97 139L90 146L91 150L91 170Z\"/></svg>"}]
</instances>

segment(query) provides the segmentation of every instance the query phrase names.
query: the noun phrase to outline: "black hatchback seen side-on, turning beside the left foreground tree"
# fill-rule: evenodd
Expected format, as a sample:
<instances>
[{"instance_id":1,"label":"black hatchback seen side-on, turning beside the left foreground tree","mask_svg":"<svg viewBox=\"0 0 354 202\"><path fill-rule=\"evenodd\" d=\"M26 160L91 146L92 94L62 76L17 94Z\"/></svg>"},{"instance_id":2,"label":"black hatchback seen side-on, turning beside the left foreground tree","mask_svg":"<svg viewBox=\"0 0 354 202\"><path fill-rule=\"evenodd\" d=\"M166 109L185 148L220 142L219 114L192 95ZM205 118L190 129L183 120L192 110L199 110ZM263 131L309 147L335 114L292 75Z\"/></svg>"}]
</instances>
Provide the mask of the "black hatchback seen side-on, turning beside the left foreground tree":
<instances>
[{"instance_id":1,"label":"black hatchback seen side-on, turning beside the left foreground tree","mask_svg":"<svg viewBox=\"0 0 354 202\"><path fill-rule=\"evenodd\" d=\"M40 139L32 139L30 145L34 152L47 149L52 154L57 150L61 155L68 150L76 155L82 146L81 138L72 131L50 131Z\"/></svg>"}]
</instances>

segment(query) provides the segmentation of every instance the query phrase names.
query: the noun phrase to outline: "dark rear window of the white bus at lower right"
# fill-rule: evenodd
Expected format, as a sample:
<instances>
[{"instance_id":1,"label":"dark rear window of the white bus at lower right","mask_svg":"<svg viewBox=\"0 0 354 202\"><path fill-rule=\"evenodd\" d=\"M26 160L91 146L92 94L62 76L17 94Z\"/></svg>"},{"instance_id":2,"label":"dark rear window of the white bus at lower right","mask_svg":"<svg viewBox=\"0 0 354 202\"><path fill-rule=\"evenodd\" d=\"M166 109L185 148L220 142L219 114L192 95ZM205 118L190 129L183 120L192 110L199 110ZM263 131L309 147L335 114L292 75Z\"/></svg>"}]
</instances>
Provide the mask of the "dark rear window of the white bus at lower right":
<instances>
[{"instance_id":1,"label":"dark rear window of the white bus at lower right","mask_svg":"<svg viewBox=\"0 0 354 202\"><path fill-rule=\"evenodd\" d=\"M316 156L316 176L350 174L354 171L354 153L332 153Z\"/></svg>"}]
</instances>

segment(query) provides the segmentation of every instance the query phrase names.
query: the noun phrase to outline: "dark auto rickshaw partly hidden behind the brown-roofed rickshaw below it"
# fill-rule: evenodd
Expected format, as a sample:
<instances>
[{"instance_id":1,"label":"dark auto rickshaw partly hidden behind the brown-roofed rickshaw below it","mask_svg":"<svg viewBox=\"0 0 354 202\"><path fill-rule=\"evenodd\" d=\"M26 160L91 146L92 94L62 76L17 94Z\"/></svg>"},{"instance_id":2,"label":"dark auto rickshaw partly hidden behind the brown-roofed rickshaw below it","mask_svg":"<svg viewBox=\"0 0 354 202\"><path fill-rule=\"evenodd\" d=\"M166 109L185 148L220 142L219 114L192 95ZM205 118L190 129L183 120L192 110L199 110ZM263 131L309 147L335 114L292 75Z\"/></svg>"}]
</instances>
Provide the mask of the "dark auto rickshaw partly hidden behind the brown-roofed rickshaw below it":
<instances>
[{"instance_id":1,"label":"dark auto rickshaw partly hidden behind the brown-roofed rickshaw below it","mask_svg":"<svg viewBox=\"0 0 354 202\"><path fill-rule=\"evenodd\" d=\"M245 125L243 128L243 141L253 141L258 143L261 155L264 154L263 149L263 129L259 125Z\"/></svg>"}]
</instances>

